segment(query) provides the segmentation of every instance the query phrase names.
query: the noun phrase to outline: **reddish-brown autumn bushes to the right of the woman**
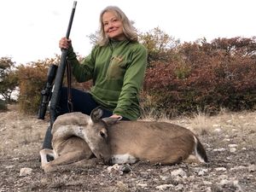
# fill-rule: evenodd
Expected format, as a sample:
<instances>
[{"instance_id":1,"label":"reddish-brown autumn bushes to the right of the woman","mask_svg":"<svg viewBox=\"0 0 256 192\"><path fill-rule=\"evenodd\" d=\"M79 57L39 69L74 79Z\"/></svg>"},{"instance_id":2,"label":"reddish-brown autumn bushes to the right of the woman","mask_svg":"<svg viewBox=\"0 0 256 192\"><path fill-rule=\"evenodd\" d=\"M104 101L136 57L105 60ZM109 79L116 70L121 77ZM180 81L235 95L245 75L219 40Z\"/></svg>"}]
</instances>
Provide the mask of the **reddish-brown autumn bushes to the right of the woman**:
<instances>
[{"instance_id":1,"label":"reddish-brown autumn bushes to the right of the woman","mask_svg":"<svg viewBox=\"0 0 256 192\"><path fill-rule=\"evenodd\" d=\"M256 107L255 40L215 39L185 43L177 49L179 60L155 61L146 73L143 108L169 114L193 113L198 108L216 113Z\"/></svg>"}]
</instances>

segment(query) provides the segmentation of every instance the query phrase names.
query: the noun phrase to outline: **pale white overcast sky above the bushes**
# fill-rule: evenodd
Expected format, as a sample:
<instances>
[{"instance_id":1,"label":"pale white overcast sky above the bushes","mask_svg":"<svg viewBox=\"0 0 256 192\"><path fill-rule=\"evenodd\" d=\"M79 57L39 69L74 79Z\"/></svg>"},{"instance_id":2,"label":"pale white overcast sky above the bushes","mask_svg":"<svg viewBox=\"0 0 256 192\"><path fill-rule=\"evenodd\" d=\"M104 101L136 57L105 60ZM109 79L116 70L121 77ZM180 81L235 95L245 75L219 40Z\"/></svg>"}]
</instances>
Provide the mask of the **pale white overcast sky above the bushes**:
<instances>
[{"instance_id":1,"label":"pale white overcast sky above the bushes","mask_svg":"<svg viewBox=\"0 0 256 192\"><path fill-rule=\"evenodd\" d=\"M88 55L88 36L99 27L99 15L108 5L118 6L139 32L160 27L181 42L198 38L252 38L256 36L254 0L77 0L70 38L79 55ZM16 64L60 55L73 0L0 0L0 57Z\"/></svg>"}]
</instances>

